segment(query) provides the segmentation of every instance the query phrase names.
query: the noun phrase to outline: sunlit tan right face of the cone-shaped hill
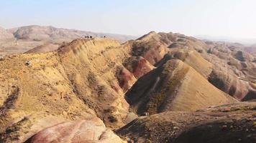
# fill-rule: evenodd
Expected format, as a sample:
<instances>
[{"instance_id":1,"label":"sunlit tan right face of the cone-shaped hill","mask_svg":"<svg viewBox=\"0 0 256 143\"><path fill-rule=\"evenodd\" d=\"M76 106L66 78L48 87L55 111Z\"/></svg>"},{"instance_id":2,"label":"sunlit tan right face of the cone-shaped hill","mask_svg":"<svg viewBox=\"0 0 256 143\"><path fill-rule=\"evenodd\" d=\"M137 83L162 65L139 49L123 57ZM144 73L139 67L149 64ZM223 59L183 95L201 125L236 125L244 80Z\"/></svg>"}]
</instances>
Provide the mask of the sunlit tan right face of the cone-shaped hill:
<instances>
[{"instance_id":1,"label":"sunlit tan right face of the cone-shaped hill","mask_svg":"<svg viewBox=\"0 0 256 143\"><path fill-rule=\"evenodd\" d=\"M210 106L237 102L236 99L210 84L195 69L188 67L184 63L180 64L183 69L188 68L188 72L183 77L172 104L166 107L165 110L195 111Z\"/></svg>"}]
</instances>

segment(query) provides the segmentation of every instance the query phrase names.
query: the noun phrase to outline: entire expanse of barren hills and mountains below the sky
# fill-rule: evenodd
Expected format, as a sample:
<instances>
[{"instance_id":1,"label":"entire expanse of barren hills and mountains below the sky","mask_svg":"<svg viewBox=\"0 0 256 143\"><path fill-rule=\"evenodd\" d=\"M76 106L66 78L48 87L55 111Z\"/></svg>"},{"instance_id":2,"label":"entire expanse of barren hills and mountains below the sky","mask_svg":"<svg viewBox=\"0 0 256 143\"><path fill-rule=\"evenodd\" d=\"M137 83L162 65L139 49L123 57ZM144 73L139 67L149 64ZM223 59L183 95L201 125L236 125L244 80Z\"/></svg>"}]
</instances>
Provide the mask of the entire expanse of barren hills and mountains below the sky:
<instances>
[{"instance_id":1,"label":"entire expanse of barren hills and mountains below the sky","mask_svg":"<svg viewBox=\"0 0 256 143\"><path fill-rule=\"evenodd\" d=\"M256 142L253 49L79 32L1 29L0 142Z\"/></svg>"}]
</instances>

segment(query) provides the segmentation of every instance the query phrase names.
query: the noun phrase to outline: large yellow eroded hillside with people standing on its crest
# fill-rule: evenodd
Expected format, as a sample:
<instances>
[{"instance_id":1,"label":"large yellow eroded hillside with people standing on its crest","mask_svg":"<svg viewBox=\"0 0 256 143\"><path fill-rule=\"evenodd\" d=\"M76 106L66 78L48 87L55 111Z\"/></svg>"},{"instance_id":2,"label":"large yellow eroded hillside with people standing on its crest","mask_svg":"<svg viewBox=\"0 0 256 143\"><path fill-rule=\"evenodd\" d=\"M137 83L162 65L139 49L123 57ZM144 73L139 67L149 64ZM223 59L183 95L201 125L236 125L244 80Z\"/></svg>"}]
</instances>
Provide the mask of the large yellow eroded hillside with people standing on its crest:
<instances>
[{"instance_id":1,"label":"large yellow eroded hillside with people standing on its crest","mask_svg":"<svg viewBox=\"0 0 256 143\"><path fill-rule=\"evenodd\" d=\"M49 118L57 124L99 117L107 127L122 126L129 105L118 71L127 56L113 39L77 39L57 51L1 59L1 137L26 139L53 124L46 124ZM132 75L127 82L135 81Z\"/></svg>"}]
</instances>

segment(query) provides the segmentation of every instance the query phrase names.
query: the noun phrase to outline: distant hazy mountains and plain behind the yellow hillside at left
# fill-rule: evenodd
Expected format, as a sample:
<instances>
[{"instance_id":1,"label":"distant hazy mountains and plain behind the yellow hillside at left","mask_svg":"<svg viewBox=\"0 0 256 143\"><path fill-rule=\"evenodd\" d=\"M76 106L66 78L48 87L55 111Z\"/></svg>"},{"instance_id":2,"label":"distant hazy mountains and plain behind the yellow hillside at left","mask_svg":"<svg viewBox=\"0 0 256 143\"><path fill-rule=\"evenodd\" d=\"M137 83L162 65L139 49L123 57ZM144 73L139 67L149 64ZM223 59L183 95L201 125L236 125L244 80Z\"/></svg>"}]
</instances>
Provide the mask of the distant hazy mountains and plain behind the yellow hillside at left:
<instances>
[{"instance_id":1,"label":"distant hazy mountains and plain behind the yellow hillside at left","mask_svg":"<svg viewBox=\"0 0 256 143\"><path fill-rule=\"evenodd\" d=\"M62 29L53 26L21 26L13 29L0 27L0 57L9 54L24 53L33 49L40 53L57 49L74 39L85 36L107 37L124 42L135 39L135 36L122 34L106 34L75 29ZM31 52L31 51L29 51Z\"/></svg>"}]
</instances>

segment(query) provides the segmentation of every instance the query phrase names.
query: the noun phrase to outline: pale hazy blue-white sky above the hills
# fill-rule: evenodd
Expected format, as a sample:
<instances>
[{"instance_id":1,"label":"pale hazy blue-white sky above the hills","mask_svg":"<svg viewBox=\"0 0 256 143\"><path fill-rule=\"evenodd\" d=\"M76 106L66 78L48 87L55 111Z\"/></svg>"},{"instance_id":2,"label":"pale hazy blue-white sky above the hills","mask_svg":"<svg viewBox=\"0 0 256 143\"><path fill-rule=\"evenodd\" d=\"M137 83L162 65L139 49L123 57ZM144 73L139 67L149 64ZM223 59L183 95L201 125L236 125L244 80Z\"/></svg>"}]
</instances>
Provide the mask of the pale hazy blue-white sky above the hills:
<instances>
[{"instance_id":1,"label":"pale hazy blue-white sky above the hills","mask_svg":"<svg viewBox=\"0 0 256 143\"><path fill-rule=\"evenodd\" d=\"M256 39L256 0L0 0L0 26Z\"/></svg>"}]
</instances>

